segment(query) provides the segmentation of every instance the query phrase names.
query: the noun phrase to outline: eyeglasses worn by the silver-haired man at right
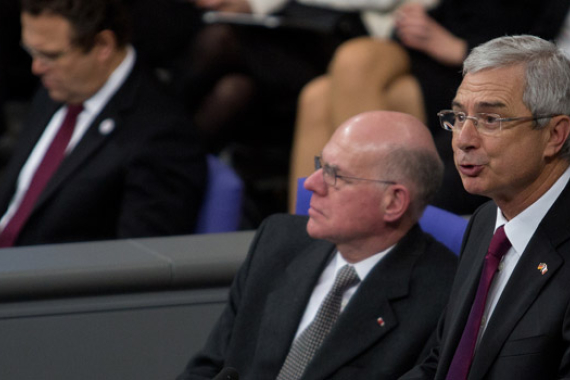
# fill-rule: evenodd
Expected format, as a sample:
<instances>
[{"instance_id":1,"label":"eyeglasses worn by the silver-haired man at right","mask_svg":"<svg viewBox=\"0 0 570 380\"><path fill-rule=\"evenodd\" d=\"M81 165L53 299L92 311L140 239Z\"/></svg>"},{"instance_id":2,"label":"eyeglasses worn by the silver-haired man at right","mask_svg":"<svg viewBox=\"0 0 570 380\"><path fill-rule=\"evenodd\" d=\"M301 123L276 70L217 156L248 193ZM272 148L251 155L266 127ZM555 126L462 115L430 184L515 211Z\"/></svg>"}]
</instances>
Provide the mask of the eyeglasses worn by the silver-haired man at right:
<instances>
[{"instance_id":1,"label":"eyeglasses worn by the silver-haired man at right","mask_svg":"<svg viewBox=\"0 0 570 380\"><path fill-rule=\"evenodd\" d=\"M451 132L461 132L467 120L473 121L473 125L479 133L497 135L503 129L503 123L509 121L537 121L560 115L536 115L521 117L501 117L496 113L476 113L475 116L467 116L465 112L443 110L437 113L439 123L443 129Z\"/></svg>"}]
</instances>

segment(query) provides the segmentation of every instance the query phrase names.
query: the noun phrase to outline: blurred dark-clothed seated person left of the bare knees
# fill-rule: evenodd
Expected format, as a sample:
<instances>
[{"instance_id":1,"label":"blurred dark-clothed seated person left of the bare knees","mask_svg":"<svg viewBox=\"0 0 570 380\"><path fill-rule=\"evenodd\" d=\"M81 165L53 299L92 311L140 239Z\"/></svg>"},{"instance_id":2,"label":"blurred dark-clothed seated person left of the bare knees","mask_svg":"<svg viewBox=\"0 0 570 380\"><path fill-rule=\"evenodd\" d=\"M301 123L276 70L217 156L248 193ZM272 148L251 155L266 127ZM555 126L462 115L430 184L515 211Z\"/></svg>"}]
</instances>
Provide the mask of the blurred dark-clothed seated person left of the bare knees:
<instances>
[{"instance_id":1,"label":"blurred dark-clothed seated person left of the bare knees","mask_svg":"<svg viewBox=\"0 0 570 380\"><path fill-rule=\"evenodd\" d=\"M280 15L329 15L325 9L296 2L281 7L272 7L272 1L192 3L204 11L234 14L259 15L274 10ZM218 153L233 142L286 145L284 151L288 151L300 89L324 73L340 42L366 34L352 14L335 10L330 14L350 19L351 26L321 33L302 26L266 28L226 21L205 25L188 43L173 84L210 152ZM270 126L268 117L274 120Z\"/></svg>"}]
</instances>

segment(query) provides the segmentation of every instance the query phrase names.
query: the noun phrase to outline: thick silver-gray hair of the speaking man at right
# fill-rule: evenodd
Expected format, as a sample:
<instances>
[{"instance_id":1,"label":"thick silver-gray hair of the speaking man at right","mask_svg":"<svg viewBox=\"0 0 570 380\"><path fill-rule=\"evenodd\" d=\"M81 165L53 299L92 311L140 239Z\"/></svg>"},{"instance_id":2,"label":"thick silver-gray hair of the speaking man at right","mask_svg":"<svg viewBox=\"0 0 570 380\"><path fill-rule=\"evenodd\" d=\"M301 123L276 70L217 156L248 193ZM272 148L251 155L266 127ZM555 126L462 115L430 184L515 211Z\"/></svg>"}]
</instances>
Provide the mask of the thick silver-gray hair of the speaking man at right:
<instances>
[{"instance_id":1,"label":"thick silver-gray hair of the speaking man at right","mask_svg":"<svg viewBox=\"0 0 570 380\"><path fill-rule=\"evenodd\" d=\"M525 67L523 103L533 115L570 115L570 61L554 43L542 38L520 35L488 41L467 56L463 75L513 65ZM537 127L548 121L538 120ZM559 154L570 161L569 140Z\"/></svg>"}]
</instances>

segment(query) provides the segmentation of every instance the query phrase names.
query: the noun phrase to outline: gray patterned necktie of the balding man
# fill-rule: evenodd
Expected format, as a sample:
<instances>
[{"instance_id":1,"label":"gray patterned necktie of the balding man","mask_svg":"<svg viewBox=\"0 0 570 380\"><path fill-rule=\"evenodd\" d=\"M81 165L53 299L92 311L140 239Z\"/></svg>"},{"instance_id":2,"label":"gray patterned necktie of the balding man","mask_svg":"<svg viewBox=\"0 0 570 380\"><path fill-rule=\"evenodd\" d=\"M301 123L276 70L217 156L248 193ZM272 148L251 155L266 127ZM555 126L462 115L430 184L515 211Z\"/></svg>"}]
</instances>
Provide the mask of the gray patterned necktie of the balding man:
<instances>
[{"instance_id":1,"label":"gray patterned necktie of the balding man","mask_svg":"<svg viewBox=\"0 0 570 380\"><path fill-rule=\"evenodd\" d=\"M353 266L343 266L336 275L332 289L319 307L315 319L291 345L277 380L297 380L332 329L339 314L344 292L360 282Z\"/></svg>"}]
</instances>

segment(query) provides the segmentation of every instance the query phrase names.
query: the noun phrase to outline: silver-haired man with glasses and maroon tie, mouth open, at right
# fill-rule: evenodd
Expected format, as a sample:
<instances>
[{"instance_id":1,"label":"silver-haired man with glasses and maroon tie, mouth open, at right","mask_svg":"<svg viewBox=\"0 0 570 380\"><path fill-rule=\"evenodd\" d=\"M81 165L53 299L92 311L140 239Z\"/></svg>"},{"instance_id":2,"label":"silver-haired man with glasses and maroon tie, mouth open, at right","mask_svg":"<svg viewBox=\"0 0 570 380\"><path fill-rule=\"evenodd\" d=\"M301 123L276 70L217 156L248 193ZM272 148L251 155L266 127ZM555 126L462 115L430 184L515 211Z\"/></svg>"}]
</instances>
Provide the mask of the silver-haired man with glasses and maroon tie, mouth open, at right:
<instances>
[{"instance_id":1,"label":"silver-haired man with glasses and maroon tie, mouth open, at right","mask_svg":"<svg viewBox=\"0 0 570 380\"><path fill-rule=\"evenodd\" d=\"M570 378L570 62L501 37L465 60L441 126L463 185L490 197L468 226L431 355L404 379Z\"/></svg>"}]
</instances>

